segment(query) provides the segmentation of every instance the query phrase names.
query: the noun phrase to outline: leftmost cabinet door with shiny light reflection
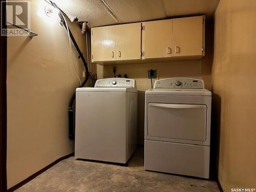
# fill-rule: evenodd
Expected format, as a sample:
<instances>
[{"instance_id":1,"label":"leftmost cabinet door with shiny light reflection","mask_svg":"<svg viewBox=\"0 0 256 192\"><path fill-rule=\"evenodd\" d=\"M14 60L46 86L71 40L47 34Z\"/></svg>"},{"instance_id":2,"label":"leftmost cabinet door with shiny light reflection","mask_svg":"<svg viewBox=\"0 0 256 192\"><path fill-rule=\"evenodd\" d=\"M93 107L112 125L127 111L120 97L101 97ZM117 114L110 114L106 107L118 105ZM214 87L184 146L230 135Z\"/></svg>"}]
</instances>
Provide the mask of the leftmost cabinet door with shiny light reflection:
<instances>
[{"instance_id":1,"label":"leftmost cabinet door with shiny light reflection","mask_svg":"<svg viewBox=\"0 0 256 192\"><path fill-rule=\"evenodd\" d=\"M92 28L92 61L116 60L116 26Z\"/></svg>"}]
</instances>

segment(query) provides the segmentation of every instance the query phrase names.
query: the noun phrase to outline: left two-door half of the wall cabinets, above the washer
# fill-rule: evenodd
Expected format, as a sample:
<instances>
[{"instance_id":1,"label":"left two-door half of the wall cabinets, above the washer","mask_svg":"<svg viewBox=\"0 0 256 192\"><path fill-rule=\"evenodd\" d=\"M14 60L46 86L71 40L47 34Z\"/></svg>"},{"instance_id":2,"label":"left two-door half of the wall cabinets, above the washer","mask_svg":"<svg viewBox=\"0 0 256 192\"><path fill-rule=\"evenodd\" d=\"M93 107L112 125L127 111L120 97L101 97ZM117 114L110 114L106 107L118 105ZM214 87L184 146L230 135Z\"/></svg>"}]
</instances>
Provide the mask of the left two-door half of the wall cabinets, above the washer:
<instances>
[{"instance_id":1,"label":"left two-door half of the wall cabinets, above the washer","mask_svg":"<svg viewBox=\"0 0 256 192\"><path fill-rule=\"evenodd\" d=\"M92 28L92 61L141 59L141 24Z\"/></svg>"}]
</instances>

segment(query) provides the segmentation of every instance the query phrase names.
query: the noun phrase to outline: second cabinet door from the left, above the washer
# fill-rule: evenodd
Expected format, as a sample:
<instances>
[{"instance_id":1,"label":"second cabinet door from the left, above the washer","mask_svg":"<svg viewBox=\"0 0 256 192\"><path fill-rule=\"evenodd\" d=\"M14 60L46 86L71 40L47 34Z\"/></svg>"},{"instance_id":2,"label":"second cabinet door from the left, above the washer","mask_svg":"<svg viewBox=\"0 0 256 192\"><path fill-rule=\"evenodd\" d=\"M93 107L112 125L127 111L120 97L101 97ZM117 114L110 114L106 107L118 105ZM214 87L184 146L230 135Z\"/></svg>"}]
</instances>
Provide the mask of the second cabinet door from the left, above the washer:
<instances>
[{"instance_id":1,"label":"second cabinet door from the left, above the washer","mask_svg":"<svg viewBox=\"0 0 256 192\"><path fill-rule=\"evenodd\" d=\"M141 23L116 26L116 60L141 59Z\"/></svg>"}]
</instances>

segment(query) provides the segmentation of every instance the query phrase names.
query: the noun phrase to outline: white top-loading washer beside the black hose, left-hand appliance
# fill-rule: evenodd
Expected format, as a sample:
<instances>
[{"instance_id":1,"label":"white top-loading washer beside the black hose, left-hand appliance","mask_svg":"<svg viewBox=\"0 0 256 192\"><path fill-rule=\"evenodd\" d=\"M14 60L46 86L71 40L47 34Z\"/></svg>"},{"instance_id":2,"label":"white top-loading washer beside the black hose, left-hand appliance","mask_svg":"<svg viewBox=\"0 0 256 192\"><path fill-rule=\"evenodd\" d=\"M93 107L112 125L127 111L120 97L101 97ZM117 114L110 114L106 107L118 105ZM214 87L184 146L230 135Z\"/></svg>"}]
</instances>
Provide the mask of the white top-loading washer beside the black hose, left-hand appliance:
<instances>
[{"instance_id":1,"label":"white top-loading washer beside the black hose, left-hand appliance","mask_svg":"<svg viewBox=\"0 0 256 192\"><path fill-rule=\"evenodd\" d=\"M100 79L76 89L75 158L126 163L136 147L135 80Z\"/></svg>"}]
</instances>

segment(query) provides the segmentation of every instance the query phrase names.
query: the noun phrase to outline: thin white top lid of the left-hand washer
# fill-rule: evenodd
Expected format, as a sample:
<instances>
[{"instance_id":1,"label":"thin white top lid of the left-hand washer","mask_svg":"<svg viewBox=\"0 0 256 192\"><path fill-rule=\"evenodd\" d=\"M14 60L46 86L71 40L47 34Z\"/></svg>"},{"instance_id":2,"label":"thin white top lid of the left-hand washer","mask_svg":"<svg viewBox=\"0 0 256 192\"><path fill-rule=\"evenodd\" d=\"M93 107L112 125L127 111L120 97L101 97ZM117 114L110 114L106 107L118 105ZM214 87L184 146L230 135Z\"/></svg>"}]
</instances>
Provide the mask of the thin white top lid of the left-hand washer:
<instances>
[{"instance_id":1,"label":"thin white top lid of the left-hand washer","mask_svg":"<svg viewBox=\"0 0 256 192\"><path fill-rule=\"evenodd\" d=\"M133 87L79 87L76 91L92 92L137 92Z\"/></svg>"}]
</instances>

